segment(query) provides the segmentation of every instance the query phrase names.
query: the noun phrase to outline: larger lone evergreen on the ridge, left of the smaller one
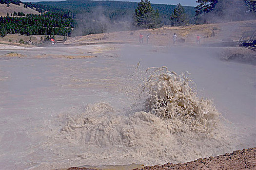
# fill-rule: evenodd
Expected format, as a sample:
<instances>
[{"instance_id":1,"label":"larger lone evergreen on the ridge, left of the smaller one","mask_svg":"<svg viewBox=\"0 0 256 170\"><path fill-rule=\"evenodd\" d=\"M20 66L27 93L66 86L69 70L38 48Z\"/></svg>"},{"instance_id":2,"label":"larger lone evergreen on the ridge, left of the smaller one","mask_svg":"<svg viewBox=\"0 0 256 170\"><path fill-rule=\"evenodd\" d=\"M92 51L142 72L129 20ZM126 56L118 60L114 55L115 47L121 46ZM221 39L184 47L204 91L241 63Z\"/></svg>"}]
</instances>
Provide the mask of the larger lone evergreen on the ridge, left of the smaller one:
<instances>
[{"instance_id":1,"label":"larger lone evergreen on the ridge, left of the smaller one","mask_svg":"<svg viewBox=\"0 0 256 170\"><path fill-rule=\"evenodd\" d=\"M141 0L135 10L135 25L140 28L158 28L161 26L159 12L154 11L149 0Z\"/></svg>"}]
</instances>

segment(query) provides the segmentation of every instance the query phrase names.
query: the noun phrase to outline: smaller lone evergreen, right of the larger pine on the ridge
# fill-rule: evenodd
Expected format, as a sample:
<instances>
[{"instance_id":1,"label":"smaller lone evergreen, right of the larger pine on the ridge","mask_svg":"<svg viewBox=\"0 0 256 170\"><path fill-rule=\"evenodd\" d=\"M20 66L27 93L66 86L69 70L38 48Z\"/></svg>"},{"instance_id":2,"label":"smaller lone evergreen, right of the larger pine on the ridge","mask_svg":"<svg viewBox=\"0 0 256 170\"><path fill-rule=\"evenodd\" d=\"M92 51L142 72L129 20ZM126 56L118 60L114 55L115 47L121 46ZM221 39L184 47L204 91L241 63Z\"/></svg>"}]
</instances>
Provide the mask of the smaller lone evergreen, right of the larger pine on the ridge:
<instances>
[{"instance_id":1,"label":"smaller lone evergreen, right of the larger pine on the ridge","mask_svg":"<svg viewBox=\"0 0 256 170\"><path fill-rule=\"evenodd\" d=\"M188 24L187 15L185 10L180 3L177 4L177 7L174 9L174 13L171 16L172 25L174 26L183 26Z\"/></svg>"}]
</instances>

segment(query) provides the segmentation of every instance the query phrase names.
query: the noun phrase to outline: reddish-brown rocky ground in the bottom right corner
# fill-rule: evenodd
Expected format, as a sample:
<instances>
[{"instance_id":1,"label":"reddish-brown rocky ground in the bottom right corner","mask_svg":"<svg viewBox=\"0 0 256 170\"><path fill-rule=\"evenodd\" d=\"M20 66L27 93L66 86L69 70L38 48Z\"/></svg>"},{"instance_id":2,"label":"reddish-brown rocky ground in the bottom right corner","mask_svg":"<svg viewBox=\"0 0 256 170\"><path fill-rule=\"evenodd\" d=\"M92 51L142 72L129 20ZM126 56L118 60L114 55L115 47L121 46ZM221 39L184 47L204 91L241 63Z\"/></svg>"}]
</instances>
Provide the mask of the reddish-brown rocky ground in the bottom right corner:
<instances>
[{"instance_id":1,"label":"reddish-brown rocky ground in the bottom right corner","mask_svg":"<svg viewBox=\"0 0 256 170\"><path fill-rule=\"evenodd\" d=\"M67 170L99 169L72 167ZM111 170L118 169L112 168ZM256 148L238 150L216 157L199 158L184 164L167 163L164 165L146 166L134 170L256 170Z\"/></svg>"}]
</instances>

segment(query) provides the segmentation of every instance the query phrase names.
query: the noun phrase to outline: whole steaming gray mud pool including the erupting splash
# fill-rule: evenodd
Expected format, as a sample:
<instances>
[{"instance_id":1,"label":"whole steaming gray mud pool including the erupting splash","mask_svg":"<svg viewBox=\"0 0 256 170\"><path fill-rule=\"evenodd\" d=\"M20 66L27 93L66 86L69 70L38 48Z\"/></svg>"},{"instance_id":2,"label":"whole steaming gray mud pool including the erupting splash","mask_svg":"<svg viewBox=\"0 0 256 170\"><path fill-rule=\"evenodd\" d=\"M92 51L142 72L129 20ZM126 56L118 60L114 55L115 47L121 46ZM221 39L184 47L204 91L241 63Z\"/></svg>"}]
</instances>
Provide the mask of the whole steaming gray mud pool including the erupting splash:
<instances>
[{"instance_id":1,"label":"whole steaming gray mud pool including the erupting splash","mask_svg":"<svg viewBox=\"0 0 256 170\"><path fill-rule=\"evenodd\" d=\"M0 59L1 168L180 163L254 147L256 68L217 52L126 46Z\"/></svg>"}]
</instances>

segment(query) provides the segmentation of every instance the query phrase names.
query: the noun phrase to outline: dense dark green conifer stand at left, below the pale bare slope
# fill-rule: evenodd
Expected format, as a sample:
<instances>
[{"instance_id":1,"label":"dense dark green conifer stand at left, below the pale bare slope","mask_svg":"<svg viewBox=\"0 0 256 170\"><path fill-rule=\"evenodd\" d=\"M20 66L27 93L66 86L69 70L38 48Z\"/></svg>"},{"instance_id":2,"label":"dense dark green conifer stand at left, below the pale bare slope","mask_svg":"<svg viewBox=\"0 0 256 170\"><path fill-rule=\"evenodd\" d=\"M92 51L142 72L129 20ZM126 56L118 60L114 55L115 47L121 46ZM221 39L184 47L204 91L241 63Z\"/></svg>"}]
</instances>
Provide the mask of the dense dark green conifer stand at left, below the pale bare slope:
<instances>
[{"instance_id":1,"label":"dense dark green conifer stand at left, below the pale bare slope","mask_svg":"<svg viewBox=\"0 0 256 170\"><path fill-rule=\"evenodd\" d=\"M74 22L70 17L56 12L43 15L27 14L26 17L0 17L0 36L17 33L69 36L72 27Z\"/></svg>"}]
</instances>

